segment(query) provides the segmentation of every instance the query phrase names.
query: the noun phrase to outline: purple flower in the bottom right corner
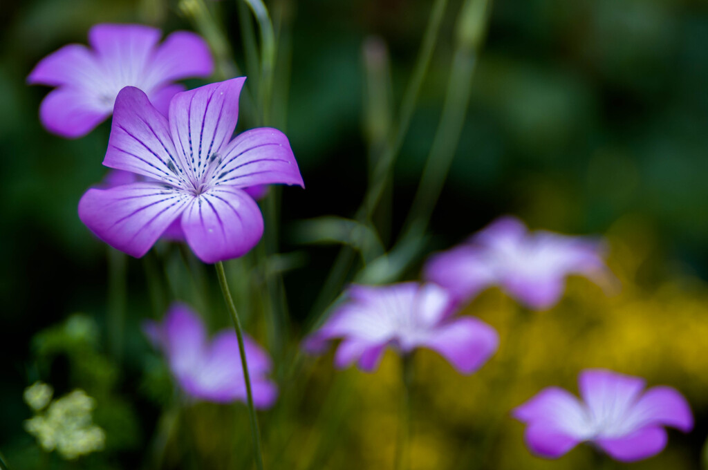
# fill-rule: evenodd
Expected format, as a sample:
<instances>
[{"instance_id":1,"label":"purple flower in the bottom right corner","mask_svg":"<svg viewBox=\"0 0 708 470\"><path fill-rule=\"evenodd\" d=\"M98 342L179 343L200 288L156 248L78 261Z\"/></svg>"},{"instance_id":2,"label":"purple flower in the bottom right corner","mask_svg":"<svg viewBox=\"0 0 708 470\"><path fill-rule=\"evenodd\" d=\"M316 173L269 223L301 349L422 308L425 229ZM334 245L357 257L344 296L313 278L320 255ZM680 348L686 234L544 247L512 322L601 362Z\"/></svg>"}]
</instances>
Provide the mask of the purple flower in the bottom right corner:
<instances>
[{"instance_id":1,"label":"purple flower in the bottom right corner","mask_svg":"<svg viewBox=\"0 0 708 470\"><path fill-rule=\"evenodd\" d=\"M658 454L666 446L663 426L688 432L693 416L675 389L605 369L586 369L578 377L583 401L564 389L549 387L515 408L527 424L531 452L555 459L579 442L593 442L613 459L634 462Z\"/></svg>"}]
</instances>

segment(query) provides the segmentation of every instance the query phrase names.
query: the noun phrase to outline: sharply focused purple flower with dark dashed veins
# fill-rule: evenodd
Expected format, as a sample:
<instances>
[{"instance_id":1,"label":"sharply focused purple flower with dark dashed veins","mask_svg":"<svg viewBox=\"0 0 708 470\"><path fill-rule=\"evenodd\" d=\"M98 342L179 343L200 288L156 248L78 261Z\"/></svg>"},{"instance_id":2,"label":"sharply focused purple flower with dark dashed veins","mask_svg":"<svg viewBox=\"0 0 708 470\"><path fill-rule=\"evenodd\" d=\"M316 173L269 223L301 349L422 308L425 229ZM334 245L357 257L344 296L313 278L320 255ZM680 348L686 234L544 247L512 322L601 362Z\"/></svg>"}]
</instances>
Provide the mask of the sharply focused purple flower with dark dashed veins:
<instances>
[{"instance_id":1,"label":"sharply focused purple flower with dark dashed veins","mask_svg":"<svg viewBox=\"0 0 708 470\"><path fill-rule=\"evenodd\" d=\"M244 188L303 183L279 130L261 127L231 139L244 80L177 93L169 120L145 93L123 88L115 100L103 164L152 180L86 191L79 202L86 227L136 257L176 221L205 263L253 248L263 234L263 216Z\"/></svg>"}]
</instances>

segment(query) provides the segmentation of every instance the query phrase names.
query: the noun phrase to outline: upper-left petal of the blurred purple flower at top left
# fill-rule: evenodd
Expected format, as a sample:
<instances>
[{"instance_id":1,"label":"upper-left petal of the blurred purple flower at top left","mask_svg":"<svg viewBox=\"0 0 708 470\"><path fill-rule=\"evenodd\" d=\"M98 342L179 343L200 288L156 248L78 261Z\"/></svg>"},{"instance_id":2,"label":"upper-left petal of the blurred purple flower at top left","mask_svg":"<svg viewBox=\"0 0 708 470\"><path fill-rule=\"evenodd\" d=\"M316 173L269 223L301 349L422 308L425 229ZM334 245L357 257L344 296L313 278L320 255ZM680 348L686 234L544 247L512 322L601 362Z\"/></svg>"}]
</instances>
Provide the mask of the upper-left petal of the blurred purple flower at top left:
<instances>
[{"instance_id":1,"label":"upper-left petal of the blurred purple flower at top left","mask_svg":"<svg viewBox=\"0 0 708 470\"><path fill-rule=\"evenodd\" d=\"M88 47L70 44L47 55L27 77L29 84L101 88L101 71Z\"/></svg>"}]
</instances>

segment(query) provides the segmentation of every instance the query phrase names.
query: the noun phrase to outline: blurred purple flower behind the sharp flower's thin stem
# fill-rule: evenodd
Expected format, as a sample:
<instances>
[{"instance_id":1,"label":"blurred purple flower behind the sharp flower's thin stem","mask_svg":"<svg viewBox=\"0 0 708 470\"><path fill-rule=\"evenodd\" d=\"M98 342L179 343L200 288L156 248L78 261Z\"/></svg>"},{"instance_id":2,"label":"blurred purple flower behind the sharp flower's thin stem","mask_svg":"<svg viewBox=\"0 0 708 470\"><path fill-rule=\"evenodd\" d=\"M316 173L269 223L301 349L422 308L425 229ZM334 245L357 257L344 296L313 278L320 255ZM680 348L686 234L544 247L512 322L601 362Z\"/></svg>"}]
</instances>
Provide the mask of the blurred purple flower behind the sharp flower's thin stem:
<instances>
[{"instance_id":1,"label":"blurred purple flower behind the sharp flower's thin stem","mask_svg":"<svg viewBox=\"0 0 708 470\"><path fill-rule=\"evenodd\" d=\"M167 357L185 394L215 403L246 402L244 369L234 331L224 330L208 341L199 316L183 304L173 304L162 323L147 321L144 331ZM257 408L270 408L278 398L277 387L268 379L270 357L248 336L244 336L244 343L253 403Z\"/></svg>"}]
</instances>

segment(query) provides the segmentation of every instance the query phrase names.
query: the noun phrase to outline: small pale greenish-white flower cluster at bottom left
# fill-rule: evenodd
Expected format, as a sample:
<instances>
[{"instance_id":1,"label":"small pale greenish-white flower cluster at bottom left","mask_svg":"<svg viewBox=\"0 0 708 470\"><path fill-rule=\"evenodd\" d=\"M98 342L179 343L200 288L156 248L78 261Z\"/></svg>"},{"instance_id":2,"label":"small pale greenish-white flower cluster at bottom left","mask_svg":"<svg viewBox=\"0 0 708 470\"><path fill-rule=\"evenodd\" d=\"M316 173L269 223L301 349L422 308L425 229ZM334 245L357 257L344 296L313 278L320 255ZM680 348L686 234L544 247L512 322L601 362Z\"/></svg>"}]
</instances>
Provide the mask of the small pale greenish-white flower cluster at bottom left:
<instances>
[{"instance_id":1,"label":"small pale greenish-white flower cluster at bottom left","mask_svg":"<svg viewBox=\"0 0 708 470\"><path fill-rule=\"evenodd\" d=\"M52 387L37 382L25 390L24 398L40 412L52 397ZM74 390L49 403L44 413L25 421L25 430L46 452L57 450L67 460L103 449L105 431L93 424L91 411L96 402L83 390Z\"/></svg>"}]
</instances>

